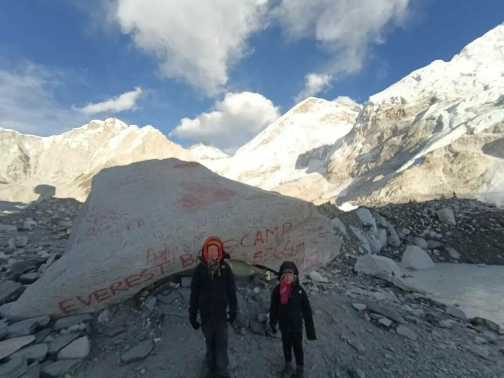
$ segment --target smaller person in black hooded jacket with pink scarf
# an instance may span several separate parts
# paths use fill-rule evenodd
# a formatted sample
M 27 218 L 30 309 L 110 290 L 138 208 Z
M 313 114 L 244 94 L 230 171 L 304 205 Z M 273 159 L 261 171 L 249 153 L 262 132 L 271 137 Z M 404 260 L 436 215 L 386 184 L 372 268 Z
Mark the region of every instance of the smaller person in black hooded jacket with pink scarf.
M 304 378 L 303 319 L 308 340 L 316 340 L 315 325 L 308 295 L 299 284 L 299 271 L 292 261 L 284 261 L 280 266 L 280 283 L 271 294 L 270 322 L 271 331 L 276 333 L 277 321 L 282 333 L 285 368 L 282 378 L 294 374 L 292 367 L 292 349 L 296 357 L 296 377 Z

